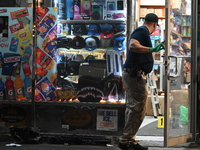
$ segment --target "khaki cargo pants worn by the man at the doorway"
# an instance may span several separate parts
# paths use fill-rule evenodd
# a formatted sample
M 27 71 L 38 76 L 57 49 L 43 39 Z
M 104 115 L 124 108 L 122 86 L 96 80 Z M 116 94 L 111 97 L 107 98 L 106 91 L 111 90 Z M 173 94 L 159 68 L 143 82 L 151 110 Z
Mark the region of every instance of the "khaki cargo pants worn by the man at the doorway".
M 136 144 L 135 136 L 146 113 L 148 97 L 146 75 L 130 77 L 126 71 L 123 71 L 122 82 L 126 91 L 126 110 L 125 126 L 120 143 Z

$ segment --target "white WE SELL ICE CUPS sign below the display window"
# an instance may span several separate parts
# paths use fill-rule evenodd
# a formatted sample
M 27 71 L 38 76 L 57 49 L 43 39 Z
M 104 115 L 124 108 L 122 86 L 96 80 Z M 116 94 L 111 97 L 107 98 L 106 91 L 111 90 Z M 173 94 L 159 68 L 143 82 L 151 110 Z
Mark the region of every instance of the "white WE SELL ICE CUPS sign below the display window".
M 97 110 L 97 130 L 117 131 L 118 111 L 114 109 Z

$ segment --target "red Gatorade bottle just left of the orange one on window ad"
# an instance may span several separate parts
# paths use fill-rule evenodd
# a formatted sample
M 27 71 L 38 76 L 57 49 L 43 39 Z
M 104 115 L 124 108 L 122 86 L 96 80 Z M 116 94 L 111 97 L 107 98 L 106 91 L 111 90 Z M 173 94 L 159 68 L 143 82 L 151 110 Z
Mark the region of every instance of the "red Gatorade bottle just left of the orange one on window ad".
M 10 76 L 6 77 L 6 97 L 8 100 L 14 100 L 15 99 L 15 89 L 14 89 L 14 82 L 11 80 Z

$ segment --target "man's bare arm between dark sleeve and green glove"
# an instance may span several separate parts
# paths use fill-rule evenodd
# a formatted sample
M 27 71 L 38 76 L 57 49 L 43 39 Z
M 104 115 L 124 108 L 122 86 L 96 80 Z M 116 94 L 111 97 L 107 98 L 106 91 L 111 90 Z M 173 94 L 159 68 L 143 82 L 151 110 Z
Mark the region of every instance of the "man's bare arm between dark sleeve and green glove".
M 150 47 L 141 45 L 136 39 L 131 39 L 129 43 L 129 50 L 135 53 L 149 53 Z

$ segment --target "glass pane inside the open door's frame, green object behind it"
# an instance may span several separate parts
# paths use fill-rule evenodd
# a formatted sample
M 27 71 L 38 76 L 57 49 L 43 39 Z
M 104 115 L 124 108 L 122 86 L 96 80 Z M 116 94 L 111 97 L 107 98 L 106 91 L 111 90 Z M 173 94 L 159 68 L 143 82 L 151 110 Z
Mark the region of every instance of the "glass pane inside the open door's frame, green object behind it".
M 191 0 L 171 1 L 170 137 L 190 133 Z

